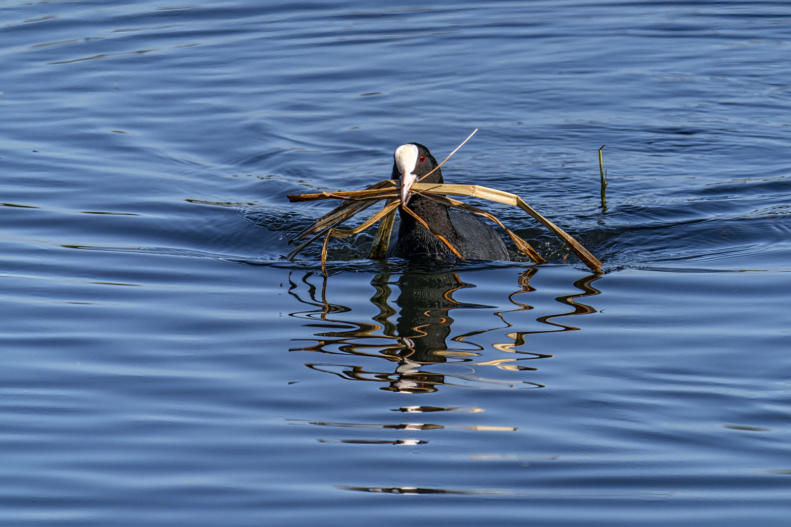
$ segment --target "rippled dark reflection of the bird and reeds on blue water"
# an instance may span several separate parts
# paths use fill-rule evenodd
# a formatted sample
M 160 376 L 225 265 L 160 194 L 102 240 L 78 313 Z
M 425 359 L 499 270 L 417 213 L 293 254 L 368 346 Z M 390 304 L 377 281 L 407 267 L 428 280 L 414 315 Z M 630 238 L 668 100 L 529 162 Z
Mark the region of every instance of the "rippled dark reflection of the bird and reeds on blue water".
M 538 322 L 553 326 L 551 329 L 505 333 L 509 342 L 492 344 L 498 351 L 509 353 L 509 356 L 479 360 L 482 355 L 480 352 L 483 352 L 484 348 L 471 341 L 472 338 L 483 333 L 513 328 L 507 319 L 509 314 L 533 309 L 529 304 L 520 302 L 520 295 L 536 291 L 530 285 L 530 279 L 538 271 L 539 269 L 536 268 L 528 269 L 518 278 L 519 288 L 508 297 L 514 309 L 494 313 L 505 326 L 479 329 L 456 337 L 451 337 L 451 327 L 454 322 L 451 316 L 452 310 L 491 308 L 453 299 L 453 293 L 457 290 L 475 287 L 461 280 L 457 273 L 407 272 L 395 282 L 391 281 L 391 275 L 377 275 L 371 281 L 376 290 L 371 302 L 380 312 L 373 317 L 372 323 L 345 320 L 344 318 L 348 317 L 344 317 L 343 313 L 351 310 L 349 307 L 330 303 L 327 300 L 327 277 L 324 277 L 320 298 L 317 298 L 316 285 L 308 281 L 312 273 L 306 273 L 301 282 L 307 285 L 307 292 L 302 293 L 301 286 L 291 279 L 289 292 L 301 303 L 314 309 L 292 313 L 291 316 L 310 320 L 311 323 L 305 324 L 307 327 L 326 330 L 315 333 L 317 339 L 305 339 L 312 344 L 293 348 L 292 351 L 377 357 L 387 360 L 392 363 L 392 367 L 387 371 L 369 371 L 363 366 L 341 363 L 308 363 L 306 366 L 344 379 L 386 384 L 387 386 L 380 386 L 380 390 L 397 393 L 430 393 L 437 391 L 439 386 L 489 389 L 541 388 L 543 386 L 536 382 L 482 377 L 476 375 L 476 370 L 493 367 L 497 370 L 492 371 L 535 371 L 536 368 L 526 366 L 524 361 L 545 359 L 551 355 L 524 352 L 516 348 L 525 344 L 525 337 L 532 333 L 579 329 L 553 319 L 596 312 L 588 305 L 577 303 L 575 299 L 598 295 L 600 291 L 591 284 L 594 280 L 598 280 L 600 275 L 589 275 L 574 282 L 573 286 L 581 290 L 581 293 L 556 298 L 559 303 L 573 307 L 573 311 L 536 318 Z M 393 294 L 391 284 L 397 285 L 400 291 L 394 302 L 391 299 Z M 396 314 L 399 315 L 397 321 L 392 322 Z M 450 347 L 448 347 L 448 339 L 454 343 Z M 437 369 L 437 365 L 442 364 L 455 366 L 452 368 L 454 371 L 441 373 L 431 371 L 432 368 Z M 460 370 L 461 373 L 458 372 Z

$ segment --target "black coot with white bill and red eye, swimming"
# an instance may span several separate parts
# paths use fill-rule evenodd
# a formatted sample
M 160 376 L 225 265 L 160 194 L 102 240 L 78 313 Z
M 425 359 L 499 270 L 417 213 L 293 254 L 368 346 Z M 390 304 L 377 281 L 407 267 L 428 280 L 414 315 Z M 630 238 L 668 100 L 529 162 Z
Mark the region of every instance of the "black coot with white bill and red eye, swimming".
M 429 149 L 419 143 L 401 145 L 393 154 L 392 179 L 400 179 L 401 201 L 441 234 L 459 253 L 471 260 L 510 260 L 497 232 L 474 214 L 450 209 L 421 195 L 409 196 L 412 183 L 437 167 Z M 421 183 L 444 183 L 441 169 Z M 391 243 L 388 258 L 455 258 L 445 243 L 399 207 L 398 239 Z

